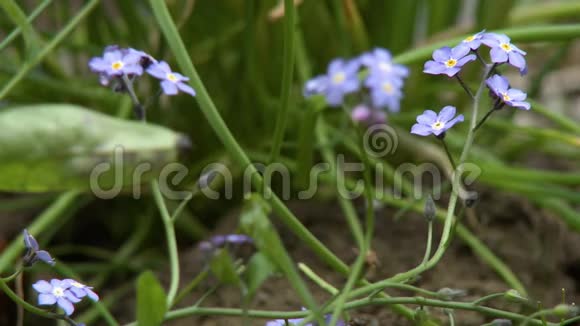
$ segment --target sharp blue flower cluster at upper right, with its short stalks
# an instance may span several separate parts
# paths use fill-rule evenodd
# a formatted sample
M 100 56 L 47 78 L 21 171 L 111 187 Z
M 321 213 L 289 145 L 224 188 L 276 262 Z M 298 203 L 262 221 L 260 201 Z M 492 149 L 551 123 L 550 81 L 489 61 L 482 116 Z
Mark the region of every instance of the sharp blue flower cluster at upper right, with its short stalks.
M 490 65 L 485 63 L 478 52 L 482 44 L 490 48 L 489 57 L 492 62 Z M 445 46 L 435 50 L 433 52 L 433 60 L 425 63 L 423 72 L 432 75 L 444 74 L 449 77 L 456 77 L 463 83 L 458 73 L 465 64 L 479 59 L 486 67 L 490 68 L 490 72 L 493 72 L 497 66 L 507 63 L 518 68 L 521 75 L 525 75 L 527 73 L 525 55 L 526 52 L 512 44 L 508 36 L 481 31 L 465 38 L 454 48 Z M 492 111 L 499 110 L 505 105 L 524 110 L 530 109 L 530 104 L 525 101 L 526 93 L 519 89 L 510 88 L 507 78 L 494 74 L 485 80 L 485 84 L 490 90 L 491 97 L 495 100 Z M 467 87 L 464 84 L 462 86 Z M 472 94 L 468 88 L 466 88 L 466 91 L 470 95 Z M 439 114 L 432 110 L 426 110 L 417 116 L 417 123 L 411 127 L 411 133 L 420 136 L 433 134 L 442 138 L 445 136 L 445 132 L 456 123 L 464 121 L 463 115 L 460 114 L 455 117 L 455 113 L 456 108 L 453 106 L 444 107 Z M 484 117 L 482 122 L 488 116 Z

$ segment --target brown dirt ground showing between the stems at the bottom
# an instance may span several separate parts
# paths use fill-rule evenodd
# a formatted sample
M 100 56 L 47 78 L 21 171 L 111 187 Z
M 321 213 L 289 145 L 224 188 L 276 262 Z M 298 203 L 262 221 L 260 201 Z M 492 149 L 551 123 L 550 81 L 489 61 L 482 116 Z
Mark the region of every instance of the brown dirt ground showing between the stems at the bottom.
M 314 205 L 315 204 L 315 205 Z M 290 208 L 300 216 L 304 224 L 324 244 L 347 263 L 356 258 L 353 239 L 342 218 L 340 208 L 335 203 L 290 203 Z M 362 213 L 362 212 L 361 212 Z M 410 213 L 405 218 L 394 221 L 396 210 L 382 208 L 377 211 L 376 236 L 373 242 L 380 267 L 367 276 L 380 280 L 414 267 L 424 254 L 427 225 L 418 214 Z M 566 289 L 567 302 L 577 300 L 580 290 L 580 235 L 572 233 L 557 220 L 520 199 L 505 194 L 494 196 L 484 194 L 471 219 L 469 228 L 514 271 L 524 283 L 530 297 L 550 307 L 562 300 L 562 289 Z M 237 212 L 223 220 L 216 234 L 231 233 L 237 224 Z M 330 270 L 289 232 L 280 227 L 287 249 L 298 262 L 311 267 L 331 284 L 340 287 L 344 278 Z M 440 234 L 437 225 L 435 234 Z M 437 236 L 434 239 L 438 242 Z M 200 252 L 196 249 L 184 251 L 183 282 L 191 280 L 203 267 Z M 487 265 L 482 263 L 461 239 L 456 238 L 442 261 L 421 276 L 415 283 L 428 290 L 443 287 L 467 291 L 464 300 L 474 300 L 486 294 L 508 290 L 507 285 Z M 209 285 L 208 285 L 209 286 Z M 319 301 L 329 295 L 315 285 L 311 290 Z M 206 287 L 207 289 L 207 287 Z M 195 292 L 180 306 L 191 305 L 203 291 Z M 397 293 L 394 295 L 410 295 Z M 240 307 L 240 294 L 234 288 L 221 288 L 207 298 L 202 306 Z M 494 301 L 491 306 L 521 311 L 516 304 Z M 294 291 L 282 278 L 272 278 L 259 291 L 251 305 L 255 309 L 297 310 L 300 303 Z M 416 308 L 416 307 L 413 307 Z M 440 309 L 431 308 L 446 318 Z M 493 318 L 472 312 L 456 312 L 457 325 L 481 325 Z M 375 306 L 351 312 L 351 325 L 411 325 L 412 323 L 396 316 L 386 306 Z M 168 323 L 168 325 L 227 326 L 241 325 L 238 318 L 191 317 Z M 251 325 L 264 325 L 265 320 L 253 320 Z

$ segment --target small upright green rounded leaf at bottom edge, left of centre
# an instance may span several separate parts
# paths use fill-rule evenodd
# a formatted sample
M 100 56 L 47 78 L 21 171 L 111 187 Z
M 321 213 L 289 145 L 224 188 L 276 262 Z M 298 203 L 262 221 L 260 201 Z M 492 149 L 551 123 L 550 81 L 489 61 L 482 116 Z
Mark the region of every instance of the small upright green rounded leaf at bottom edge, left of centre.
M 137 325 L 159 326 L 167 311 L 165 291 L 150 271 L 137 279 Z

